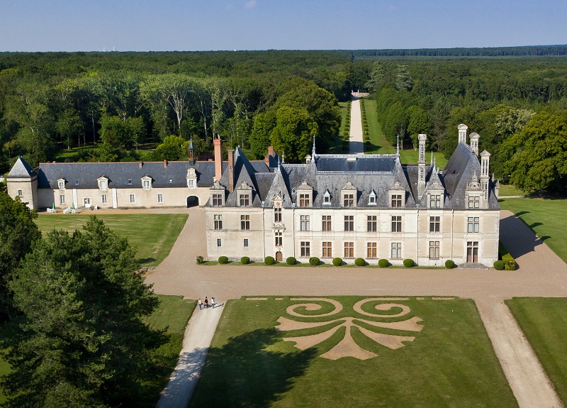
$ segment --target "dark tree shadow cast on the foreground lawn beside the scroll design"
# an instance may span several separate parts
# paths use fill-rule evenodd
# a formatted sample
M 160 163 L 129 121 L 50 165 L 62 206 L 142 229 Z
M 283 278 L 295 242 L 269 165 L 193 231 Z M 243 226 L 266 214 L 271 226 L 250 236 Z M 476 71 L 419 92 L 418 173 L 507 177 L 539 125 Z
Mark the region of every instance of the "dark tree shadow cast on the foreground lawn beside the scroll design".
M 305 373 L 316 353 L 266 350 L 277 341 L 274 329 L 258 329 L 209 348 L 189 407 L 271 406 Z

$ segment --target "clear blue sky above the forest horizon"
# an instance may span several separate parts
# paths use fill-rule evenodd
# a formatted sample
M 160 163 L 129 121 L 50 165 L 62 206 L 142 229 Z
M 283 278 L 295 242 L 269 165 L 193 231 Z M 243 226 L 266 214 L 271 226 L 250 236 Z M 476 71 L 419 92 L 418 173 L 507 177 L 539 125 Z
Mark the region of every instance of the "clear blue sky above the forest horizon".
M 0 51 L 333 50 L 567 43 L 566 0 L 11 0 Z

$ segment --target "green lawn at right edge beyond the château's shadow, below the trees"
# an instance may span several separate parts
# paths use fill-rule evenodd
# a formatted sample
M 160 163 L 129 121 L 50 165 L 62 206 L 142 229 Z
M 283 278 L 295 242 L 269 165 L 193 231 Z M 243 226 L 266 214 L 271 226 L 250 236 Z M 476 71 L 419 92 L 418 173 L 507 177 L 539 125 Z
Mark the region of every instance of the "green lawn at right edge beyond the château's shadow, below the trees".
M 518 198 L 498 200 L 537 233 L 559 258 L 567 262 L 567 199 Z

